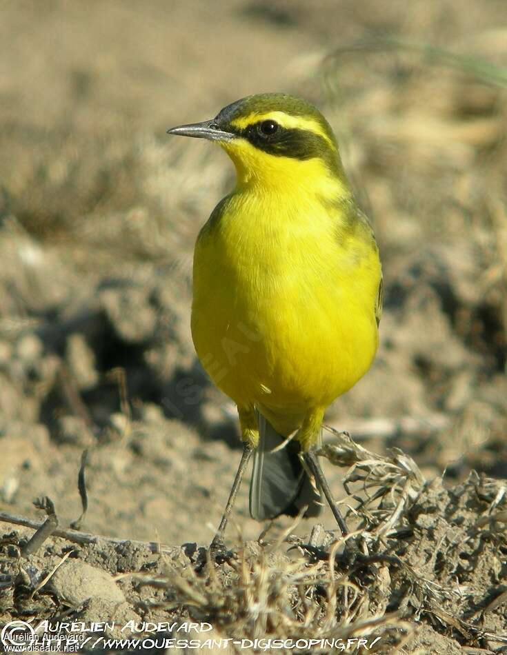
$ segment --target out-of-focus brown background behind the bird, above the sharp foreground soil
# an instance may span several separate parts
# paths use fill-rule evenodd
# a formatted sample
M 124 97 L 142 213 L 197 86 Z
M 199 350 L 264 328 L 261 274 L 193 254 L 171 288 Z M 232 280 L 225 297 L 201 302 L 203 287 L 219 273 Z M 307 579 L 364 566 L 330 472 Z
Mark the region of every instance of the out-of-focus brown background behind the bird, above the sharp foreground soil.
M 265 91 L 326 114 L 384 265 L 377 360 L 328 424 L 427 478 L 506 476 L 504 0 L 0 9 L 2 510 L 48 494 L 77 518 L 88 448 L 86 529 L 210 540 L 240 444 L 195 359 L 190 276 L 233 174 L 166 129 Z M 259 534 L 248 484 L 235 517 Z

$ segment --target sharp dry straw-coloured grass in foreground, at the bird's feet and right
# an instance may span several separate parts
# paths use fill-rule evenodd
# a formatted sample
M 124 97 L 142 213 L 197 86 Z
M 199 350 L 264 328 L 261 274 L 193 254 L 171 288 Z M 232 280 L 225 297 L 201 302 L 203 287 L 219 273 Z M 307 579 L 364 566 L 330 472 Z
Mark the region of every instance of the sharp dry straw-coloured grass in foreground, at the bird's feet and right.
M 214 638 L 265 640 L 259 647 L 268 650 L 281 641 L 314 640 L 312 652 L 329 652 L 333 643 L 339 648 L 351 640 L 349 651 L 359 652 L 358 640 L 365 639 L 365 646 L 375 642 L 375 652 L 410 652 L 420 631 L 402 618 L 409 608 L 433 625 L 433 652 L 452 648 L 439 632 L 470 647 L 506 644 L 504 587 L 493 598 L 476 596 L 477 575 L 493 570 L 499 549 L 507 548 L 506 487 L 477 475 L 455 490 L 444 490 L 441 481 L 428 485 L 403 452 L 378 456 L 348 434 L 322 454 L 348 467 L 346 487 L 363 492 L 347 500 L 356 501 L 350 514 L 359 519 L 348 546 L 319 526 L 307 539 L 295 536 L 297 519 L 275 538 L 264 532 L 245 543 L 239 535 L 221 565 L 190 549 L 189 558 L 166 561 L 165 574 L 137 577 L 143 587 L 165 590 L 151 608 L 209 621 Z M 477 520 L 465 524 L 467 513 Z M 463 568 L 460 558 L 469 553 L 474 567 Z

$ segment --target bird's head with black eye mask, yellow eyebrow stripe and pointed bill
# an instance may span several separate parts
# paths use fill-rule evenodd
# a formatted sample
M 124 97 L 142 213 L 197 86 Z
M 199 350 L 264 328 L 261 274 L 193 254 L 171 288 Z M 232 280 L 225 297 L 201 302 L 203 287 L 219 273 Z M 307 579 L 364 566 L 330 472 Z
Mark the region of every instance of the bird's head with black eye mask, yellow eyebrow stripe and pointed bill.
M 235 163 L 239 184 L 312 185 L 326 178 L 344 186 L 335 135 L 321 112 L 301 98 L 248 96 L 214 119 L 179 125 L 168 134 L 216 141 Z

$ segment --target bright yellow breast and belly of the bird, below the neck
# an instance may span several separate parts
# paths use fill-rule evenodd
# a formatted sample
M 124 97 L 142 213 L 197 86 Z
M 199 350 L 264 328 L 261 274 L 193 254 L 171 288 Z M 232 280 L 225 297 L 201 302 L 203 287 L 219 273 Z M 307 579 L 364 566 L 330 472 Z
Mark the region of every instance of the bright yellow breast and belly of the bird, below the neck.
M 230 205 L 230 220 L 208 224 L 196 245 L 199 359 L 239 407 L 288 416 L 326 407 L 377 350 L 377 251 L 366 241 L 340 243 L 324 210 L 273 226 Z

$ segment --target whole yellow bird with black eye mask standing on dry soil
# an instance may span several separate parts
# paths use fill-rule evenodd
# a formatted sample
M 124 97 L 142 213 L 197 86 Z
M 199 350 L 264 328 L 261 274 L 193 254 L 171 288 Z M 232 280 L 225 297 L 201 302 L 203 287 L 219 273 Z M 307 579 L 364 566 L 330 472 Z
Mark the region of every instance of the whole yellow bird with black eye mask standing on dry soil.
M 250 514 L 317 516 L 324 493 L 349 534 L 316 454 L 326 408 L 368 371 L 379 343 L 375 235 L 310 102 L 250 95 L 168 134 L 217 143 L 236 183 L 197 237 L 191 331 L 212 381 L 237 406 L 243 453 L 212 547 L 254 458 Z

